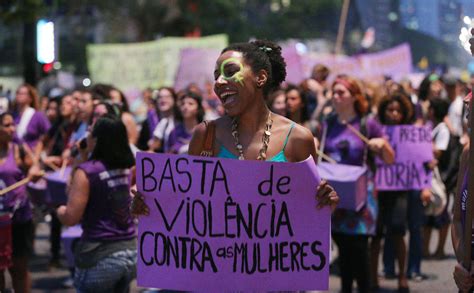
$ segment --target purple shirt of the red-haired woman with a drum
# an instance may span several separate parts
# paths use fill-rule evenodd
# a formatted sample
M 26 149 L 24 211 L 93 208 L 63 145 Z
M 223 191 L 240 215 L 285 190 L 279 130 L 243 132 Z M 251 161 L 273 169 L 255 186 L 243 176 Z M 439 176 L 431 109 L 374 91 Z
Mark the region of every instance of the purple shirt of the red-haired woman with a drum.
M 360 117 L 354 118 L 350 124 L 360 131 Z M 324 123 L 328 129 L 324 153 L 340 164 L 362 166 L 364 162 L 365 143 L 346 125 L 340 123 L 337 116 L 332 116 Z M 372 118 L 367 118 L 366 136 L 371 139 L 382 137 L 382 126 Z

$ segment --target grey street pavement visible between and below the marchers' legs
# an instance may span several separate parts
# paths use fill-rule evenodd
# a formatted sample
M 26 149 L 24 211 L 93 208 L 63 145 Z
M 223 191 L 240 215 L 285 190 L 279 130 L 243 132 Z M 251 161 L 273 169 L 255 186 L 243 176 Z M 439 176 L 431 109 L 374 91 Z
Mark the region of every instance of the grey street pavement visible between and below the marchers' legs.
M 437 233 L 433 233 L 431 241 L 432 251 L 435 249 L 437 241 Z M 67 288 L 63 286 L 63 283 L 67 281 L 69 277 L 69 271 L 66 268 L 53 268 L 48 269 L 49 262 L 49 225 L 45 222 L 38 224 L 37 236 L 35 240 L 35 256 L 33 257 L 30 265 L 33 279 L 33 293 L 40 292 L 75 292 L 73 288 Z M 453 255 L 453 249 L 451 247 L 451 241 L 448 238 L 446 241 L 445 251 L 448 255 L 447 259 L 444 260 L 424 260 L 422 263 L 422 272 L 428 276 L 427 280 L 421 282 L 410 281 L 411 292 L 457 292 L 456 285 L 452 279 L 452 271 L 455 265 L 455 259 Z M 63 264 L 65 264 L 63 260 Z M 380 269 L 382 266 L 379 266 Z M 336 275 L 331 275 L 329 279 L 329 292 L 339 292 L 340 279 Z M 396 292 L 397 280 L 386 280 L 380 278 L 381 289 L 378 292 Z M 7 274 L 7 288 L 11 288 L 11 281 Z M 136 282 L 132 283 L 131 292 L 150 292 L 151 290 L 145 290 L 136 286 Z M 12 292 L 8 291 L 7 292 Z M 312 291 L 314 293 L 316 291 Z M 356 292 L 356 290 L 354 290 Z

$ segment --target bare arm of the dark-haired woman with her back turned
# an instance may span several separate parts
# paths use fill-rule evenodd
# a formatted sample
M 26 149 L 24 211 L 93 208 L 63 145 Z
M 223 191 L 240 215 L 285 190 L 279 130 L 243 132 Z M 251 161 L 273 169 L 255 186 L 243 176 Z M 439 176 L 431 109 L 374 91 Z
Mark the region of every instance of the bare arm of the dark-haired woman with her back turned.
M 72 177 L 71 186 L 68 192 L 67 205 L 60 206 L 56 212 L 59 221 L 66 226 L 78 224 L 89 201 L 89 179 L 86 173 L 77 169 Z

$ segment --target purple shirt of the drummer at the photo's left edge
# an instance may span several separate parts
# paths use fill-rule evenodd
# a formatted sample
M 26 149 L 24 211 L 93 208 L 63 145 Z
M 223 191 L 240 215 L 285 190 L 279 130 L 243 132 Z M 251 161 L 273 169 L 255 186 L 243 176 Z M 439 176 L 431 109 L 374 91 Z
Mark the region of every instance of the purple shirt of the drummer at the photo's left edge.
M 13 145 L 8 150 L 6 160 L 0 164 L 0 189 L 8 187 L 23 178 L 23 172 L 15 161 Z M 22 185 L 4 196 L 0 196 L 0 211 L 13 213 L 12 222 L 20 223 L 31 220 L 30 200 L 26 194 L 26 185 Z

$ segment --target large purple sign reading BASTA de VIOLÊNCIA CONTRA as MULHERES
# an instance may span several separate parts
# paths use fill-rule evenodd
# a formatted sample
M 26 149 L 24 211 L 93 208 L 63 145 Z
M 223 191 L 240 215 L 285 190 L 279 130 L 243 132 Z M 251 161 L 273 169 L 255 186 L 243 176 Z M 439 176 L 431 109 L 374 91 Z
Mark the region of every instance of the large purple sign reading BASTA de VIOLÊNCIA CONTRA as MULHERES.
M 138 285 L 203 292 L 327 290 L 330 210 L 301 163 L 139 153 Z

